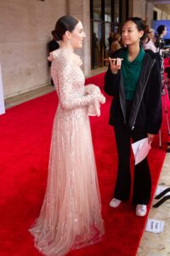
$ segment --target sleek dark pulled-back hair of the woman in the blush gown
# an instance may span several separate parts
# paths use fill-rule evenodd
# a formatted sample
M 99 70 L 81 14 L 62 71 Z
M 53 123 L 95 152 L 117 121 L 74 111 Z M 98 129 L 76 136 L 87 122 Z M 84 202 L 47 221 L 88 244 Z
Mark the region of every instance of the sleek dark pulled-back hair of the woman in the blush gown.
M 77 26 L 78 22 L 79 20 L 71 15 L 60 17 L 59 20 L 57 20 L 54 29 L 54 35 L 57 41 L 63 39 L 63 35 L 66 31 L 72 32 L 75 29 L 75 26 Z

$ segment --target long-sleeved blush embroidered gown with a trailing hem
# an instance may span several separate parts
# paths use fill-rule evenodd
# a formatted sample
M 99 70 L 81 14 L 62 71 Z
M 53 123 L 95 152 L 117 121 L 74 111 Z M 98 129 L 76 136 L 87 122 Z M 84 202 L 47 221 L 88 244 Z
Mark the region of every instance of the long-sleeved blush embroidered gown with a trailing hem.
M 59 96 L 54 117 L 48 183 L 42 209 L 31 228 L 35 247 L 44 255 L 65 255 L 101 240 L 99 184 L 88 119 L 94 95 L 85 95 L 79 56 L 54 52 L 51 73 Z

